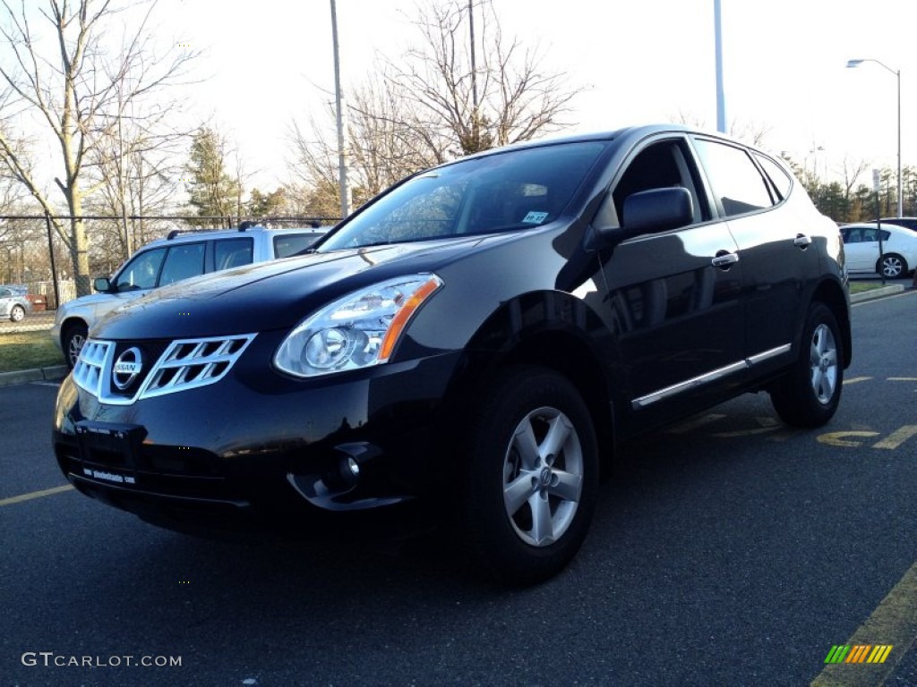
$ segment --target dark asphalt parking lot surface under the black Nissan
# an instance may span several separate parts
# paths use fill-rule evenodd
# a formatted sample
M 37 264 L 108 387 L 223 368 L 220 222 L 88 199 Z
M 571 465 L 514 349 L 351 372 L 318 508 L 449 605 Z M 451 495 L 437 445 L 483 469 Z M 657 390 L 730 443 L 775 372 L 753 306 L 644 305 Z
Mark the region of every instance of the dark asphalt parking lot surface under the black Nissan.
M 917 291 L 853 313 L 828 426 L 746 396 L 627 445 L 579 558 L 523 591 L 459 572 L 436 534 L 154 529 L 66 485 L 56 385 L 0 388 L 3 682 L 917 684 Z M 826 667 L 847 645 L 891 649 Z

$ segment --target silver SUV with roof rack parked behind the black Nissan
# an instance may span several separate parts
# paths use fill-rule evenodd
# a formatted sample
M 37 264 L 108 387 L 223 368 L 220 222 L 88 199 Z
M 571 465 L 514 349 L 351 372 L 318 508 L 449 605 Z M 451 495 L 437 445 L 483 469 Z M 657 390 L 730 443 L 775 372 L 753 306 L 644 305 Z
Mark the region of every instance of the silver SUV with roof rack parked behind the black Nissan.
M 63 303 L 51 338 L 72 367 L 89 330 L 118 306 L 182 279 L 296 255 L 326 230 L 320 226 L 275 229 L 249 222 L 238 229 L 173 230 L 140 248 L 110 278 L 95 279 L 97 293 Z

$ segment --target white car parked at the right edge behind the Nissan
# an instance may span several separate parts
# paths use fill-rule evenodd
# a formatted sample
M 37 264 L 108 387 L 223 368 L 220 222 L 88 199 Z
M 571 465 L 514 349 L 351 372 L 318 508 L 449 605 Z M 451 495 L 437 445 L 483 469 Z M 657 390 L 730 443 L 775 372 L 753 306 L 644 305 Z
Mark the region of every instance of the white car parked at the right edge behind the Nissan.
M 882 252 L 879 255 L 879 232 Z M 917 267 L 917 233 L 896 224 L 845 224 L 841 227 L 847 271 L 904 277 Z

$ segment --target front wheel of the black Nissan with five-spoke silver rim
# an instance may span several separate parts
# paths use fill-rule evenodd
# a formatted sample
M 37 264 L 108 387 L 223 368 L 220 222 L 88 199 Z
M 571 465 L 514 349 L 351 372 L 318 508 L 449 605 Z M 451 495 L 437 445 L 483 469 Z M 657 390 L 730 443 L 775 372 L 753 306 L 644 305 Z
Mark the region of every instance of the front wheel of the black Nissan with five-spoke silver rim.
M 474 561 L 503 583 L 546 580 L 586 537 L 598 495 L 589 409 L 553 370 L 515 366 L 474 412 L 459 509 Z

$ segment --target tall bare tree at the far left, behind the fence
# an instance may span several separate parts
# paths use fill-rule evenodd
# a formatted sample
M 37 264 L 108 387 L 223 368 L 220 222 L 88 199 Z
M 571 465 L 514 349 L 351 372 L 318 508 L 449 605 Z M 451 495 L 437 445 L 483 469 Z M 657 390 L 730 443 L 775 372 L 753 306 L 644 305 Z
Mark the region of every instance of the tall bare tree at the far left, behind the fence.
M 142 6 L 141 6 L 142 5 Z M 56 140 L 61 174 L 54 178 L 71 219 L 65 223 L 21 147 L 0 131 L 0 164 L 16 175 L 48 213 L 70 251 L 77 293 L 89 292 L 89 258 L 83 203 L 93 191 L 88 171 L 94 151 L 129 104 L 142 102 L 175 82 L 193 53 L 157 54 L 150 44 L 150 16 L 156 2 L 115 5 L 112 0 L 46 0 L 38 9 L 20 0 L 0 0 L 6 48 L 0 84 L 6 106 L 43 122 Z M 114 21 L 138 17 L 131 28 Z M 105 34 L 123 33 L 117 50 L 105 48 Z

